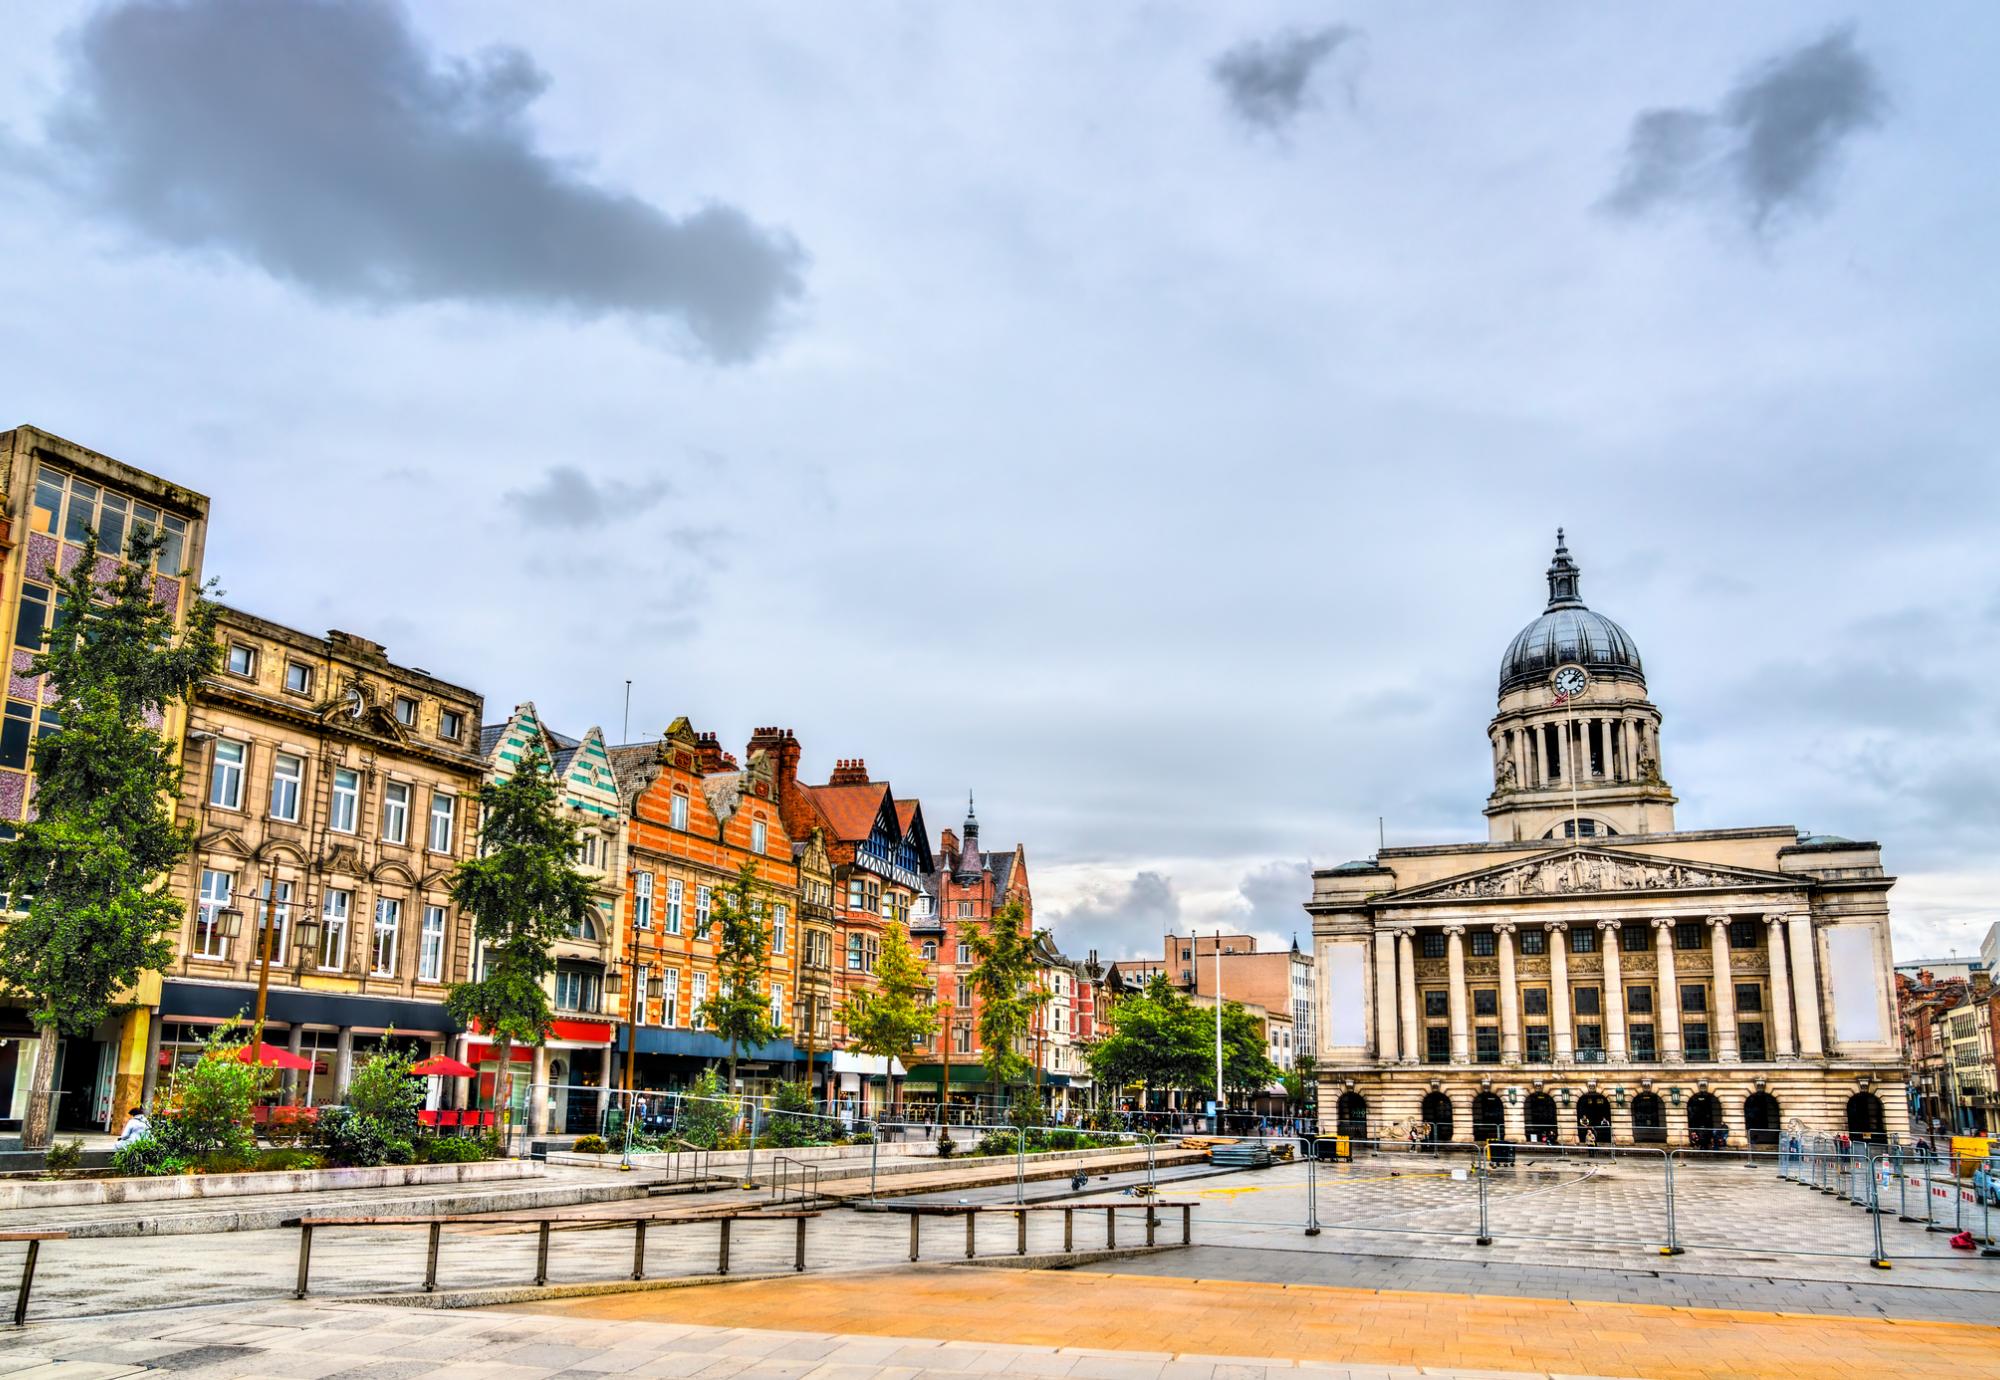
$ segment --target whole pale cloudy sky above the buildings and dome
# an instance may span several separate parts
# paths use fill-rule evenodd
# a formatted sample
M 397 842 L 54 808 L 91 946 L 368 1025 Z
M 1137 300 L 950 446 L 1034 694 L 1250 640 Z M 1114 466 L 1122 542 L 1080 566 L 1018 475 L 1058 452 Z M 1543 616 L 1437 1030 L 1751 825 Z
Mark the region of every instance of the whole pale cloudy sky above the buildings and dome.
M 1066 952 L 1484 838 L 1500 652 L 1638 642 L 1682 828 L 2000 920 L 1986 4 L 10 14 L 0 426 L 228 602 L 566 732 L 968 790 Z M 1380 820 L 1380 826 L 1378 826 Z

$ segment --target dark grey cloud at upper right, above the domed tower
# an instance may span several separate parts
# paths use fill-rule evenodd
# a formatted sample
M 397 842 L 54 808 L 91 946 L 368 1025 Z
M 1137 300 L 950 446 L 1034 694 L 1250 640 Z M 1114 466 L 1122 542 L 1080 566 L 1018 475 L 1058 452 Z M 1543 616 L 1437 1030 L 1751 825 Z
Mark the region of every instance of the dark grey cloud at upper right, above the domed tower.
M 1886 112 L 1854 30 L 1836 28 L 1744 74 L 1714 110 L 1640 112 L 1604 210 L 1632 218 L 1718 202 L 1764 230 L 1784 212 L 1820 208 L 1840 146 Z

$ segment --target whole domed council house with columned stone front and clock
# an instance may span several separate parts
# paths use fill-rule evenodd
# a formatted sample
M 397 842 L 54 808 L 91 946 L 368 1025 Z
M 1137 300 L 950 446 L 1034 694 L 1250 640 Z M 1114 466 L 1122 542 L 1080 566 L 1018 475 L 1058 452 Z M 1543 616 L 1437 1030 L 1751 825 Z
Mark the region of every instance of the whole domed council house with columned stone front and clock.
M 1340 1134 L 1772 1146 L 1904 1106 L 1878 844 L 1676 830 L 1638 646 L 1578 596 L 1500 660 L 1488 842 L 1314 872 Z

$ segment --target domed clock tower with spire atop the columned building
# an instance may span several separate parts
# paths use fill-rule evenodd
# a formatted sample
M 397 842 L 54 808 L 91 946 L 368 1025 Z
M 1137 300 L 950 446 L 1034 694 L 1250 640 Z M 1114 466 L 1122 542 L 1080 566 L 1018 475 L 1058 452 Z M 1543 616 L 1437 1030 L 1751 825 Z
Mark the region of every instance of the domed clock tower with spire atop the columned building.
M 1674 792 L 1660 776 L 1660 710 L 1632 634 L 1584 606 L 1580 570 L 1556 528 L 1548 608 L 1500 658 L 1500 712 L 1488 836 L 1670 834 Z

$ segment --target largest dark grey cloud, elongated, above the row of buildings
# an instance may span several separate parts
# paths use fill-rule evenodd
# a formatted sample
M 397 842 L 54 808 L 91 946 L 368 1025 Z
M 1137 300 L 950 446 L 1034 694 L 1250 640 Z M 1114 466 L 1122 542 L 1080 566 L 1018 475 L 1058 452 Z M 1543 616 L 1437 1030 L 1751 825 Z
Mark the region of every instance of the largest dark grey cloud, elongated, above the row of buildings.
M 542 152 L 546 86 L 518 48 L 426 50 L 390 0 L 128 0 L 74 34 L 36 164 L 140 236 L 328 298 L 662 318 L 716 360 L 758 354 L 798 244 Z

